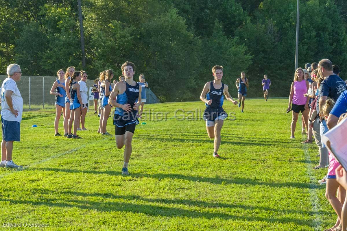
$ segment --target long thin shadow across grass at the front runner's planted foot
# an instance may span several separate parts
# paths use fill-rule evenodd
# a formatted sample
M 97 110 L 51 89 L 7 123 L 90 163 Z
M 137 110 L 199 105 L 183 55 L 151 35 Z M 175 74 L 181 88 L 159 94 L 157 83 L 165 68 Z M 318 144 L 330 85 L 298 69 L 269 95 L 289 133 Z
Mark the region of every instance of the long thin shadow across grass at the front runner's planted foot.
M 88 173 L 88 174 L 107 174 L 111 176 L 119 176 L 120 171 L 96 171 L 96 170 L 78 170 L 78 169 L 59 169 L 59 168 L 37 168 L 37 170 L 42 171 L 55 171 L 55 172 L 66 172 L 66 173 Z M 236 184 L 236 185 L 260 185 L 260 186 L 270 186 L 274 188 L 281 188 L 281 187 L 294 187 L 294 188 L 319 188 L 318 185 L 311 184 L 311 183 L 301 183 L 301 182 L 265 182 L 261 181 L 259 179 L 250 179 L 250 178 L 232 178 L 232 179 L 226 179 L 226 178 L 211 178 L 211 177 L 196 177 L 196 176 L 185 176 L 182 174 L 163 174 L 163 173 L 156 173 L 156 174 L 141 174 L 141 173 L 132 173 L 132 178 L 141 178 L 141 177 L 148 177 L 148 178 L 156 178 L 156 179 L 165 179 L 165 178 L 171 178 L 171 179 L 182 179 L 182 180 L 188 180 L 188 181 L 194 181 L 194 182 L 208 182 L 218 185 L 228 185 L 228 184 Z

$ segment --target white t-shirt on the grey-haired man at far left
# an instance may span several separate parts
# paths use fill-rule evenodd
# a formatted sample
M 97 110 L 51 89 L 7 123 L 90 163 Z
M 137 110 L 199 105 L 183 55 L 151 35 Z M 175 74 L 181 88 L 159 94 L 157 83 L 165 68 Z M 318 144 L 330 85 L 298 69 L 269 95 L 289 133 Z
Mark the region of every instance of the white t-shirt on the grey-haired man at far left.
M 13 92 L 11 95 L 12 105 L 13 105 L 13 109 L 18 111 L 17 117 L 10 110 L 7 110 L 9 109 L 9 106 L 5 99 L 6 90 L 10 90 Z M 20 123 L 22 121 L 22 114 L 23 114 L 23 98 L 20 95 L 20 92 L 15 80 L 13 80 L 12 78 L 7 78 L 3 81 L 1 86 L 1 117 L 7 121 L 17 121 Z

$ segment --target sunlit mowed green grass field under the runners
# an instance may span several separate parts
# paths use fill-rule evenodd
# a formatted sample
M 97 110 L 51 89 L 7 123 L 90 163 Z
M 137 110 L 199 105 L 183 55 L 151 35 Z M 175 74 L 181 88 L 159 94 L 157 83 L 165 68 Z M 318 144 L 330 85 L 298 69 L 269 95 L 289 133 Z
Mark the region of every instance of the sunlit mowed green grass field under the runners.
M 90 110 L 83 139 L 54 137 L 54 111 L 25 112 L 14 144 L 22 171 L 0 170 L 0 225 L 49 224 L 26 230 L 322 230 L 336 215 L 317 184 L 327 169 L 315 144 L 291 140 L 287 99 L 246 99 L 245 113 L 222 129 L 221 159 L 203 120 L 178 121 L 176 109 L 202 102 L 146 105 L 166 121 L 136 127 L 130 177 L 121 176 L 123 149 L 96 133 Z M 181 114 L 181 113 L 179 113 Z M 186 113 L 187 114 L 187 113 Z M 181 117 L 180 117 L 181 118 Z M 38 125 L 32 128 L 33 124 Z M 112 119 L 108 131 L 114 134 Z M 63 134 L 62 119 L 59 127 Z M 9 228 L 3 228 L 9 229 Z M 11 230 L 23 230 L 11 228 Z

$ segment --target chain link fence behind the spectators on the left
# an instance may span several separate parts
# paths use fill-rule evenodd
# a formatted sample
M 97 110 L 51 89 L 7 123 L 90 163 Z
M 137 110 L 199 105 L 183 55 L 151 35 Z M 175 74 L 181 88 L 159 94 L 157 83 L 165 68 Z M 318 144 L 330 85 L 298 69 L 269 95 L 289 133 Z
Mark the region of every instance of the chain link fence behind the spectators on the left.
M 0 85 L 6 78 L 7 76 L 0 75 Z M 23 98 L 23 111 L 55 108 L 56 96 L 51 95 L 50 91 L 57 79 L 52 76 L 22 76 L 16 83 Z M 86 85 L 90 89 L 94 81 L 88 79 Z M 94 103 L 89 101 L 88 105 L 93 107 Z

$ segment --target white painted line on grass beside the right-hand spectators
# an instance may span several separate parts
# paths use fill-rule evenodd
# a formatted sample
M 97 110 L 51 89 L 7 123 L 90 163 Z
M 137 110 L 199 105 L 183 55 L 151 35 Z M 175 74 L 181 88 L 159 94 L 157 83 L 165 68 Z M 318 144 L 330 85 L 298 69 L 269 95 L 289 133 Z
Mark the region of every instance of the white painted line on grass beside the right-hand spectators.
M 308 189 L 308 193 L 310 194 L 310 200 L 312 204 L 313 211 L 315 212 L 314 216 L 315 219 L 313 220 L 313 228 L 315 230 L 322 230 L 322 217 L 319 215 L 319 211 L 321 211 L 321 207 L 319 205 L 319 199 L 317 195 L 317 190 L 313 187 L 313 184 L 316 183 L 316 179 L 313 174 L 313 170 L 311 167 L 311 156 L 310 153 L 308 152 L 308 147 L 307 144 L 304 144 L 304 153 L 305 153 L 305 159 L 307 160 L 306 164 L 306 171 L 308 174 L 308 177 L 310 178 L 310 188 Z

